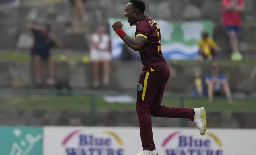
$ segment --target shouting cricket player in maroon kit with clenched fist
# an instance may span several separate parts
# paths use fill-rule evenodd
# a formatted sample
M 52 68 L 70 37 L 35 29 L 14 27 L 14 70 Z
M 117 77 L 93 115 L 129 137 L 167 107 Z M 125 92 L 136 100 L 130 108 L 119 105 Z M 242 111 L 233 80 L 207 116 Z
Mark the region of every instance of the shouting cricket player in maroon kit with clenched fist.
M 112 27 L 128 47 L 139 51 L 144 66 L 137 83 L 136 112 L 143 148 L 138 155 L 159 155 L 153 140 L 151 116 L 190 119 L 200 134 L 204 135 L 207 127 L 206 111 L 204 107 L 194 109 L 161 104 L 170 70 L 162 53 L 160 27 L 154 19 L 145 16 L 144 11 L 145 2 L 142 0 L 130 0 L 125 7 L 124 16 L 128 23 L 136 26 L 135 39 L 126 35 L 120 21 Z

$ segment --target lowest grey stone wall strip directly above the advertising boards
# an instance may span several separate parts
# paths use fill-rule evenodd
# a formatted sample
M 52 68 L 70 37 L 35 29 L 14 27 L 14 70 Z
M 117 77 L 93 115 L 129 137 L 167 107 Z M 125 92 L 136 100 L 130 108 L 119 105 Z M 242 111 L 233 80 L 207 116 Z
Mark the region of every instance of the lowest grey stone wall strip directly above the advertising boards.
M 207 113 L 208 127 L 256 128 L 256 113 Z M 95 119 L 93 119 L 95 118 Z M 0 108 L 0 125 L 124 126 L 137 127 L 136 112 Z M 153 127 L 195 127 L 186 119 L 153 117 Z

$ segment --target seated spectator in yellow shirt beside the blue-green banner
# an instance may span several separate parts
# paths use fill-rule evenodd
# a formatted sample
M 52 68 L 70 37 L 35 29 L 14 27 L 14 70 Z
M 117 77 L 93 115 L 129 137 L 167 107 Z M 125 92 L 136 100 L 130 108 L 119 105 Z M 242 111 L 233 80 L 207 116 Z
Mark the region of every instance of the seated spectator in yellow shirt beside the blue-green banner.
M 198 55 L 201 60 L 213 60 L 220 51 L 216 42 L 209 37 L 208 32 L 202 33 L 202 39 L 198 41 L 198 46 Z

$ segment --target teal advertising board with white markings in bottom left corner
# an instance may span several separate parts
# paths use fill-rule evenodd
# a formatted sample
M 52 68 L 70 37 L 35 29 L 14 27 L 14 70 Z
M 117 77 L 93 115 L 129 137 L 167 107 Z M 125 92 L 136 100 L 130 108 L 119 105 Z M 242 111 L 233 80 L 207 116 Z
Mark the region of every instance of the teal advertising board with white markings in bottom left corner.
M 42 127 L 0 127 L 0 155 L 42 155 Z

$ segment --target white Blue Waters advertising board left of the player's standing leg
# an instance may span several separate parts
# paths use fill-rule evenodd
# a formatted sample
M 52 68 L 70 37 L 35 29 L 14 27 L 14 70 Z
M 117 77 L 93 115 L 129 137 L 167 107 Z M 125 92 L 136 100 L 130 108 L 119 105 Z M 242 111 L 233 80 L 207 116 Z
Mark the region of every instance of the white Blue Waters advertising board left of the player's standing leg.
M 134 138 L 132 134 L 138 135 L 139 131 L 107 127 L 45 127 L 44 155 L 126 155 L 129 147 L 140 144 L 140 138 Z M 137 143 L 131 143 L 134 140 Z

